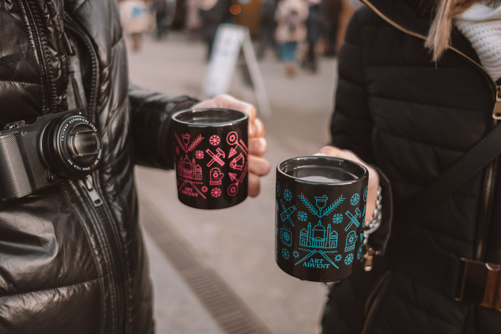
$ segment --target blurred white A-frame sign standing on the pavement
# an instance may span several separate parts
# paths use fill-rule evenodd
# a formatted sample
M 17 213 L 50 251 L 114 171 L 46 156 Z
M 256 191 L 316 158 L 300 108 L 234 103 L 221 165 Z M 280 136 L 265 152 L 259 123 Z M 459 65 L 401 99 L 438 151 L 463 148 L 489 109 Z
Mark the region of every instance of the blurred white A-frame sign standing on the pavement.
M 269 117 L 272 109 L 247 27 L 222 24 L 217 28 L 202 95 L 214 97 L 228 92 L 240 52 L 247 65 L 258 108 L 263 116 Z

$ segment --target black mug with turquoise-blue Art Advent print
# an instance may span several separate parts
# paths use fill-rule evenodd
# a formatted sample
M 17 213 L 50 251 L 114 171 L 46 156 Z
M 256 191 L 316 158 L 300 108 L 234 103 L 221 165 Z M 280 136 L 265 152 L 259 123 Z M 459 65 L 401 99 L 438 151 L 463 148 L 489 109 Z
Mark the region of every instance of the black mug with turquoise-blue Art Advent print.
M 369 172 L 350 160 L 310 156 L 277 166 L 275 259 L 288 274 L 333 282 L 362 257 Z

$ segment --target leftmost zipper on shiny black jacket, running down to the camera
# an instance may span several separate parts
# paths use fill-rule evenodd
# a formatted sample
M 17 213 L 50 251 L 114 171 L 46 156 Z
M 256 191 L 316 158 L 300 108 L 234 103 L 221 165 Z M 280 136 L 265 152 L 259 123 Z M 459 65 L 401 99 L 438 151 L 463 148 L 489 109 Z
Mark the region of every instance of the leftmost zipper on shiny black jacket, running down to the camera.
M 33 42 L 38 55 L 38 63 L 42 77 L 42 112 L 44 114 L 56 113 L 57 89 L 52 72 L 51 54 L 47 45 L 44 26 L 40 19 L 38 8 L 33 0 L 20 0 L 20 5 L 27 17 L 27 24 L 33 35 Z

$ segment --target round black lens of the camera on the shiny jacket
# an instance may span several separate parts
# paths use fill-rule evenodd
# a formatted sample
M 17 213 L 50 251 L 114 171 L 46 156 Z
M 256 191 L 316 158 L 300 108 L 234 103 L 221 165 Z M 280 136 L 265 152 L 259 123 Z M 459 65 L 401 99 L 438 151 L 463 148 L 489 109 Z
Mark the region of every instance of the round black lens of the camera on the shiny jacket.
M 101 136 L 92 122 L 81 115 L 67 115 L 51 122 L 40 143 L 48 167 L 59 176 L 83 177 L 101 160 Z

